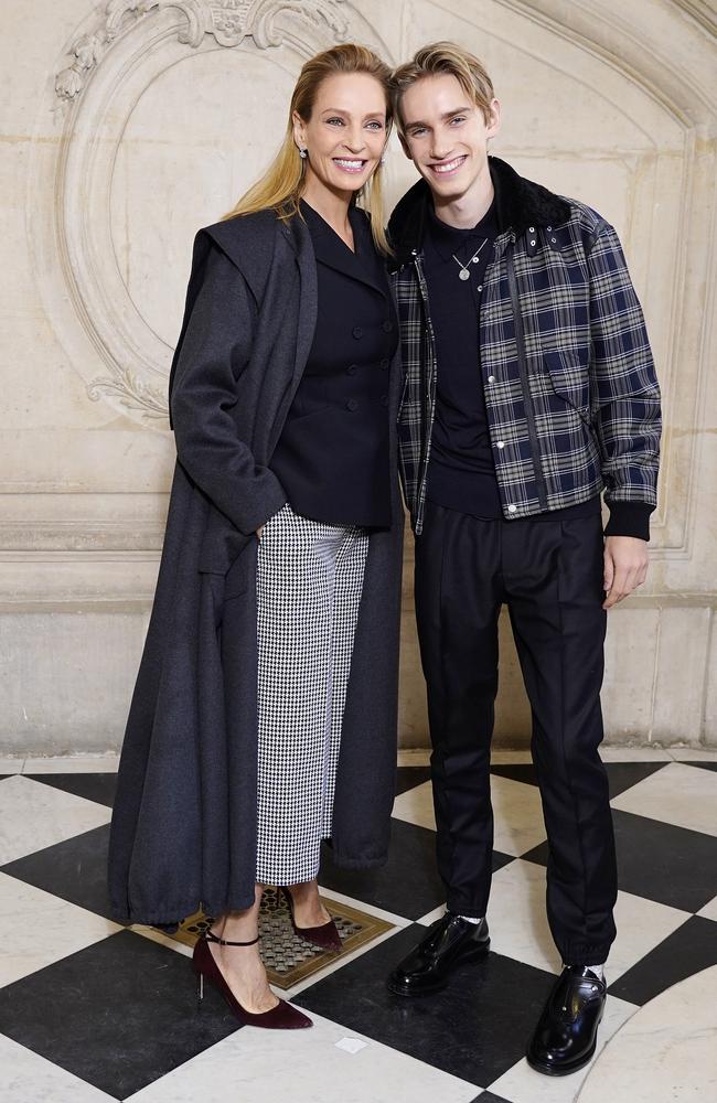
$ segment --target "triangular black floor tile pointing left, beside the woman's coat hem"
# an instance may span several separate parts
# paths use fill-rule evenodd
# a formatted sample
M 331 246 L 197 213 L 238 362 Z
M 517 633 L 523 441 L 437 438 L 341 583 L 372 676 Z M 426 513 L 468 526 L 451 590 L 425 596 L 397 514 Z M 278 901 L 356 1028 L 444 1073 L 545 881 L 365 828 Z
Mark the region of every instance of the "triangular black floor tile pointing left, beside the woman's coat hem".
M 113 919 L 107 893 L 109 824 L 35 850 L 2 867 L 3 874 Z

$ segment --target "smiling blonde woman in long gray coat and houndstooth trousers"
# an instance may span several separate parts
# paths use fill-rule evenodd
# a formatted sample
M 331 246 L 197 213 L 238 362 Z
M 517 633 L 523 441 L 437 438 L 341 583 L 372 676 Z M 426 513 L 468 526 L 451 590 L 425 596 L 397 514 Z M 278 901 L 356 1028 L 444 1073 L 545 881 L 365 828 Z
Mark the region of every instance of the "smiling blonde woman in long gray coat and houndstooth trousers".
M 263 885 L 283 887 L 297 933 L 340 949 L 321 839 L 355 868 L 388 843 L 403 532 L 388 79 L 362 46 L 309 61 L 275 162 L 196 237 L 170 378 L 178 464 L 113 816 L 117 915 L 216 917 L 194 952 L 200 995 L 207 978 L 265 1027 L 311 1021 L 268 986 Z

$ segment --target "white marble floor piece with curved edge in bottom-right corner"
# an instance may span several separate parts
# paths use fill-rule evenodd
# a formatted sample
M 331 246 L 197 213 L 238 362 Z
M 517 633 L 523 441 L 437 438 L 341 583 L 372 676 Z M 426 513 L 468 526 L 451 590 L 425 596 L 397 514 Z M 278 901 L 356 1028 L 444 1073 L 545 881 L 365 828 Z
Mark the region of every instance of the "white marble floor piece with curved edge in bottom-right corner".
M 603 1049 L 579 1103 L 717 1100 L 717 965 L 641 1007 Z

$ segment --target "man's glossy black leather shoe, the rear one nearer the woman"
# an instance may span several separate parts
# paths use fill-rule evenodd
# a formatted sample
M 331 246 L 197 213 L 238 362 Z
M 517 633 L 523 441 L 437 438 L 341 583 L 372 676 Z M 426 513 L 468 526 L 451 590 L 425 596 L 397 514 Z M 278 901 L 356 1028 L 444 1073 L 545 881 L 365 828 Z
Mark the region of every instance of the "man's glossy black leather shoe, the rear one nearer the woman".
M 445 988 L 452 968 L 485 957 L 491 949 L 488 923 L 469 923 L 447 913 L 428 929 L 426 938 L 404 957 L 388 977 L 397 996 L 427 996 Z

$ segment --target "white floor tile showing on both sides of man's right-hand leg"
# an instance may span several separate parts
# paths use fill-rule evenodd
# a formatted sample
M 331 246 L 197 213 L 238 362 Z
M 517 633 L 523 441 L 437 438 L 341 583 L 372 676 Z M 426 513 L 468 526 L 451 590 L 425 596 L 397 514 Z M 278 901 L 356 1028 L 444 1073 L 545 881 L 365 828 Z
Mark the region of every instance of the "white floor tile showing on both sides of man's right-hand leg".
M 608 984 L 631 968 L 663 939 L 689 919 L 687 912 L 619 892 L 618 938 L 606 967 Z M 488 906 L 491 949 L 527 965 L 557 973 L 560 956 L 553 943 L 545 911 L 545 868 L 512 861 L 493 875 Z M 500 1094 L 500 1093 L 499 1093 Z

